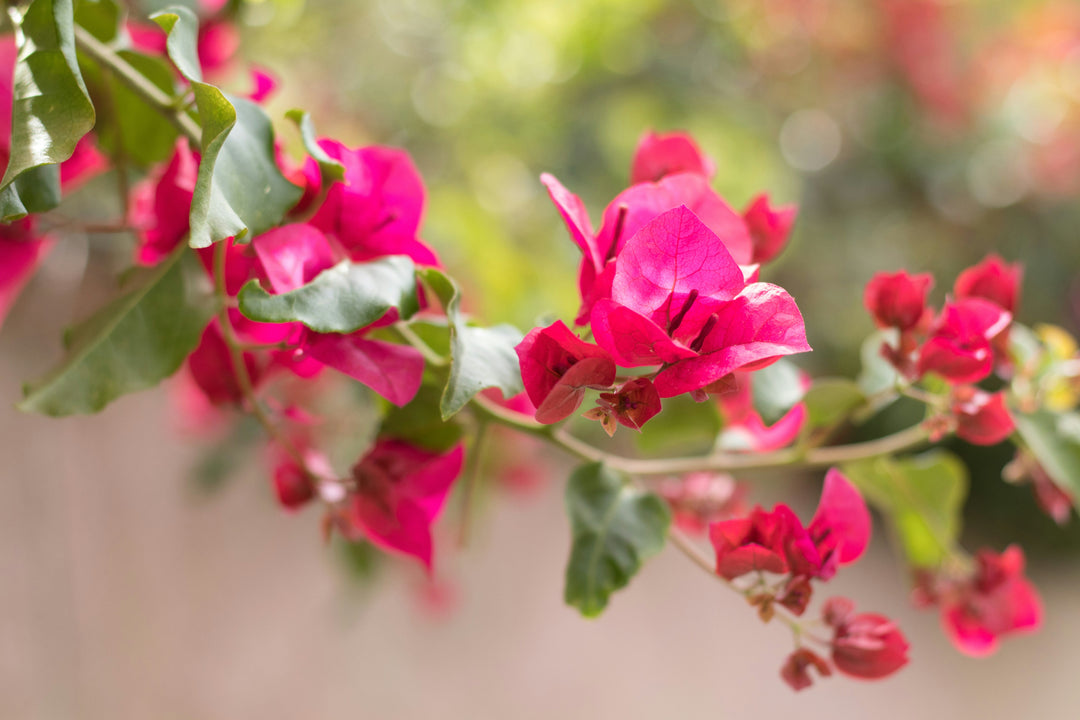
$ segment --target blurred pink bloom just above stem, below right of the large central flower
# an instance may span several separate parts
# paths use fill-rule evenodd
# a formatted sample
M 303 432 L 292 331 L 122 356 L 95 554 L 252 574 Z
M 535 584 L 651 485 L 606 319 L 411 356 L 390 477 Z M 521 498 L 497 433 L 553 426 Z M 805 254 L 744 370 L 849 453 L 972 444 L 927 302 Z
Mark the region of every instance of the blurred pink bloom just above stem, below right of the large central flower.
M 810 378 L 800 376 L 804 391 L 809 390 Z M 766 425 L 754 409 L 754 375 L 735 372 L 732 378 L 734 390 L 717 395 L 724 412 L 721 441 L 725 449 L 750 452 L 769 452 L 785 448 L 795 441 L 807 420 L 805 403 L 796 403 L 777 422 Z

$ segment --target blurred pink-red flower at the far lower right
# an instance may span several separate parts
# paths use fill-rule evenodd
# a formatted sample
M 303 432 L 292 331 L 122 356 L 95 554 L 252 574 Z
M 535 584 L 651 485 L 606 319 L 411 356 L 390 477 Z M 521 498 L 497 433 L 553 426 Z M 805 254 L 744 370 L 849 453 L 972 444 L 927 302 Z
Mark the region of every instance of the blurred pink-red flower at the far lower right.
M 1024 551 L 1010 545 L 1003 553 L 983 549 L 969 582 L 942 601 L 942 625 L 960 652 L 989 655 L 998 639 L 1030 633 L 1042 624 L 1042 601 L 1024 576 Z

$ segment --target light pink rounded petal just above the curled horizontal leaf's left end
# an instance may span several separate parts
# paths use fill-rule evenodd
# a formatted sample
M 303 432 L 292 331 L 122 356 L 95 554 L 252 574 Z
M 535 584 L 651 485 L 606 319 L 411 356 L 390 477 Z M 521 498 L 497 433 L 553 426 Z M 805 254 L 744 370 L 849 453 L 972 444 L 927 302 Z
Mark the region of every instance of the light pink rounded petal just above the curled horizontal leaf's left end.
M 289 293 L 334 264 L 326 236 L 310 225 L 274 228 L 252 241 L 274 293 Z

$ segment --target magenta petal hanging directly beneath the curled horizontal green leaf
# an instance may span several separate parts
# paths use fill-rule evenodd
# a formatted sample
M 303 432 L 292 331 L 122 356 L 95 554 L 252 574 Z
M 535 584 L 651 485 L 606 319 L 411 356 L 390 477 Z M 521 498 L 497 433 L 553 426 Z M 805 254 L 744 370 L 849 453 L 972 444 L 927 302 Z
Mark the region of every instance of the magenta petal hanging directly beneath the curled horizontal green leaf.
M 303 351 L 399 407 L 416 396 L 423 379 L 423 357 L 419 352 L 381 340 L 365 340 L 356 334 L 309 332 Z

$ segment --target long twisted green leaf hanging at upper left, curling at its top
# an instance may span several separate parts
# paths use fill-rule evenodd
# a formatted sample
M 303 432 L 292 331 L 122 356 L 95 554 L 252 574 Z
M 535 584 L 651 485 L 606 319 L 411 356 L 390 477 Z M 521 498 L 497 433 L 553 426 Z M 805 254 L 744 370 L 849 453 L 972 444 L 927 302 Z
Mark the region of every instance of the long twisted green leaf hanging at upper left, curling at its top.
M 278 167 L 273 126 L 262 109 L 202 81 L 194 13 L 171 8 L 152 19 L 168 33 L 168 57 L 191 82 L 203 131 L 191 199 L 191 246 L 208 247 L 232 236 L 249 240 L 281 222 L 301 189 Z

